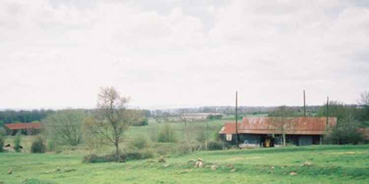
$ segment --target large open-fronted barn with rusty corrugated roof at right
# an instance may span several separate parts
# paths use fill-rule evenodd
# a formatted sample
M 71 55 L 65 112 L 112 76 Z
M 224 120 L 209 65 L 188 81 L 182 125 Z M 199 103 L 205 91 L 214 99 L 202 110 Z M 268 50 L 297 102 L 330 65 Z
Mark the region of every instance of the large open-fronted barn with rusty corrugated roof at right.
M 286 142 L 296 146 L 306 146 L 320 144 L 327 128 L 336 125 L 337 118 L 328 118 L 327 124 L 327 118 L 324 117 L 293 117 L 290 123 L 293 128 L 285 131 Z M 237 128 L 241 148 L 277 147 L 283 144 L 281 131 L 276 128 L 269 117 L 245 117 L 241 123 L 238 123 Z M 236 123 L 225 123 L 219 134 L 224 141 L 235 144 Z

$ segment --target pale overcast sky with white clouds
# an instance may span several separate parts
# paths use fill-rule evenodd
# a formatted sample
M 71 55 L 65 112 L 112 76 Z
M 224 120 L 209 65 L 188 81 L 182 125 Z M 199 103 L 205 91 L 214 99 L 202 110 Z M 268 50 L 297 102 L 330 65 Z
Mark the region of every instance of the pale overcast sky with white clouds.
M 368 0 L 0 0 L 0 109 L 356 103 Z

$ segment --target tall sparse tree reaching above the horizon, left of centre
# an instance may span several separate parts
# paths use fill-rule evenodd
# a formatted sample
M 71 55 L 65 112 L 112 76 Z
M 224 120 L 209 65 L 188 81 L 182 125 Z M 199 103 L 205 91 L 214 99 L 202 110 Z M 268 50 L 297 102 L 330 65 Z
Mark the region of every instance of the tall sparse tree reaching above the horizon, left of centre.
M 117 156 L 123 133 L 142 118 L 139 111 L 127 109 L 128 102 L 129 98 L 121 96 L 114 87 L 101 88 L 95 118 L 85 122 L 88 131 L 103 139 L 106 144 L 115 146 Z

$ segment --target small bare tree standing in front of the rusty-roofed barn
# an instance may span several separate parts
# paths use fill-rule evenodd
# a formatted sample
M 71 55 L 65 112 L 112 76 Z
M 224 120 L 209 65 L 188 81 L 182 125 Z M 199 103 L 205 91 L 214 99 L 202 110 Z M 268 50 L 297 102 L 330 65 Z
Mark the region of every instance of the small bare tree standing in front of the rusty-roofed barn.
M 287 106 L 280 106 L 274 113 L 269 115 L 269 122 L 272 124 L 273 128 L 282 134 L 283 146 L 286 145 L 286 134 L 288 131 L 295 129 L 293 123 L 293 111 Z

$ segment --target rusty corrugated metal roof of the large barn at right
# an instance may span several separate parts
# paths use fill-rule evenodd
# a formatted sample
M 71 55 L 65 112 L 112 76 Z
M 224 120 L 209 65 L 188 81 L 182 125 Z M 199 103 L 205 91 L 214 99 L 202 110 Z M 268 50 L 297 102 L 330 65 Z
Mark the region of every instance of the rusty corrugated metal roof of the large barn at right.
M 322 135 L 326 133 L 326 121 L 324 117 L 293 117 L 291 130 L 287 130 L 288 134 L 312 134 Z M 330 126 L 337 123 L 337 118 L 328 118 Z M 219 133 L 236 133 L 235 122 L 227 122 Z M 254 134 L 270 134 L 281 133 L 271 122 L 269 117 L 247 118 L 245 117 L 238 124 L 238 133 L 254 133 Z

